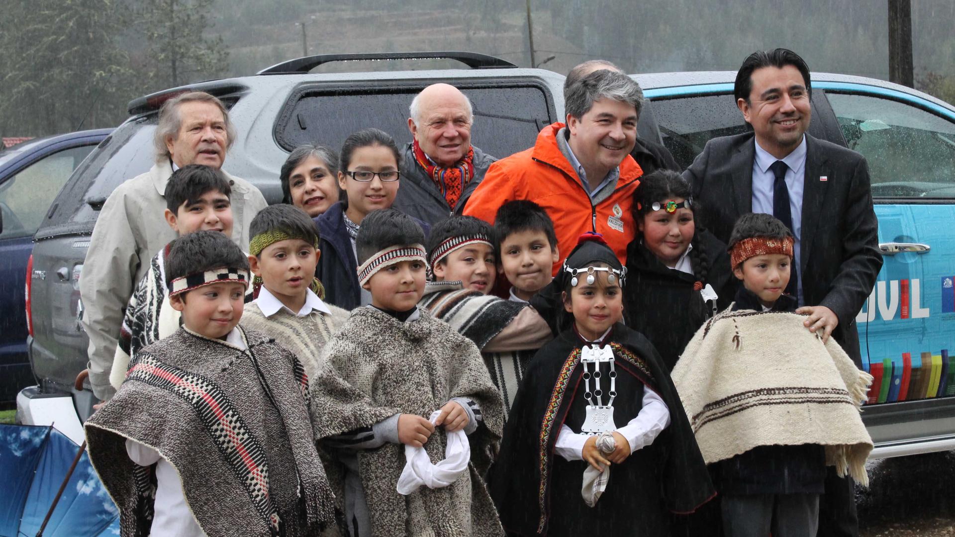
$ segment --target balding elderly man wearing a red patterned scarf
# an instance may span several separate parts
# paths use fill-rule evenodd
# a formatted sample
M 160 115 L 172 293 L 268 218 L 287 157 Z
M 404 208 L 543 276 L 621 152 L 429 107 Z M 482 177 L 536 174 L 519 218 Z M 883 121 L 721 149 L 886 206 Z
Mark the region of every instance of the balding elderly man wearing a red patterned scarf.
M 412 100 L 401 187 L 393 208 L 434 225 L 461 214 L 494 157 L 471 145 L 474 112 L 456 87 L 433 84 Z

